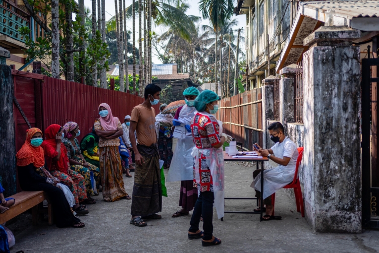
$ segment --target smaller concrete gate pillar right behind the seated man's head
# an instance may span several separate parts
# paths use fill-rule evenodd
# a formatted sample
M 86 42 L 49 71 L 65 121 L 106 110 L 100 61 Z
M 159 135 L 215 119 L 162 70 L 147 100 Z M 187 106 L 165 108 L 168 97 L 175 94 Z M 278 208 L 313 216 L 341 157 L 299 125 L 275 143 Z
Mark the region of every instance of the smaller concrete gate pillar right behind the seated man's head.
M 279 121 L 284 126 L 284 134 L 288 135 L 287 123 L 295 122 L 295 74 L 298 65 L 291 64 L 280 69 L 283 77 L 279 81 Z

